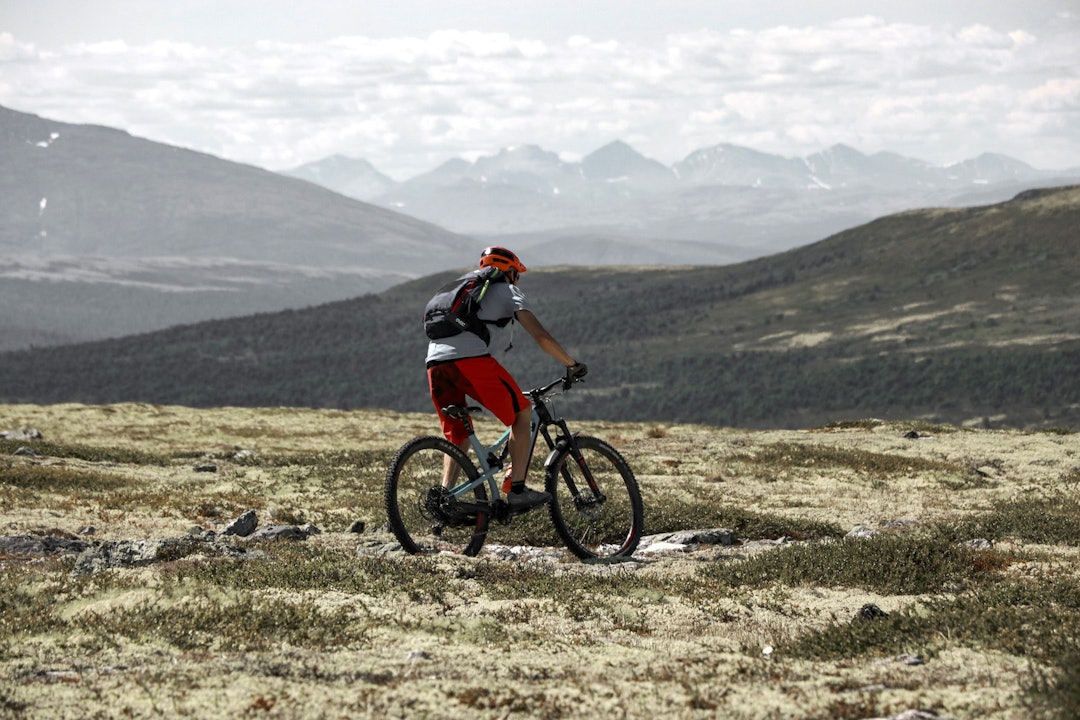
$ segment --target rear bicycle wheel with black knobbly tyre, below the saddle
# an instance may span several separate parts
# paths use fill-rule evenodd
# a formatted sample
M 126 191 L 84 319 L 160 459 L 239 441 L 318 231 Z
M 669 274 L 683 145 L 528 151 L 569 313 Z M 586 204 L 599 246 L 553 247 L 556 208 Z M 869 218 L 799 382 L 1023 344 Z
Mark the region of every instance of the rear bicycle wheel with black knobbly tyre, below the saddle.
M 406 443 L 387 470 L 387 519 L 406 553 L 476 555 L 484 545 L 490 519 L 487 490 L 482 484 L 454 500 L 443 488 L 447 468 L 451 486 L 480 477 L 461 448 L 434 436 Z

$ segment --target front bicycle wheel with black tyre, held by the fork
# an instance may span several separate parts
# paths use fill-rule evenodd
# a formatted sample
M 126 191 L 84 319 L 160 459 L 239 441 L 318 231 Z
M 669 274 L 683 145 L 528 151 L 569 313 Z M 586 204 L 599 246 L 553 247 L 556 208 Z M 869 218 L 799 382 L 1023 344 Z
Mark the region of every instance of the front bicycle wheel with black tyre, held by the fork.
M 645 522 L 634 473 L 599 438 L 580 436 L 575 445 L 556 450 L 548 464 L 551 521 L 567 548 L 582 559 L 629 556 Z

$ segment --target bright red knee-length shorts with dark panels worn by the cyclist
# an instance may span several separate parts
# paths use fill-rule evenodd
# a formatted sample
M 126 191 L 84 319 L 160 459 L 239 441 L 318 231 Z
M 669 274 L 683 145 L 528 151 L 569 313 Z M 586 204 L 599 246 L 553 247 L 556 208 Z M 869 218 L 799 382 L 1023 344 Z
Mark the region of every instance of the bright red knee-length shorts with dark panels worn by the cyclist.
M 443 435 L 455 445 L 460 445 L 468 437 L 465 426 L 460 420 L 444 416 L 443 408 L 465 405 L 465 395 L 508 426 L 514 424 L 517 413 L 529 406 L 514 378 L 490 355 L 433 365 L 428 368 L 428 386 L 431 389 L 431 402 L 435 404 L 443 423 Z

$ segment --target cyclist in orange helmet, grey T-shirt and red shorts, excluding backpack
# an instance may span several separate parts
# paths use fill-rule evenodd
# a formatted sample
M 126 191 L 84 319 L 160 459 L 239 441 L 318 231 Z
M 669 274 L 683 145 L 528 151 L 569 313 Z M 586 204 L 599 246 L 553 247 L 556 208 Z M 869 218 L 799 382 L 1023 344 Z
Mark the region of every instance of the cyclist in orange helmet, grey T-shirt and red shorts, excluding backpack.
M 495 267 L 501 271 L 498 282 L 488 287 L 481 301 L 480 320 L 495 325 L 516 321 L 544 352 L 566 366 L 568 379 L 584 376 L 588 371 L 585 365 L 576 362 L 540 324 L 525 294 L 517 287 L 517 280 L 526 270 L 517 256 L 504 247 L 488 247 L 481 254 L 480 267 Z M 428 344 L 428 385 L 443 434 L 463 450 L 469 449 L 464 423 L 446 417 L 443 408 L 464 405 L 465 395 L 510 427 L 511 468 L 507 500 L 511 510 L 529 510 L 551 501 L 550 493 L 525 486 L 532 407 L 507 368 L 491 355 L 491 342 L 495 340 L 485 343 L 478 335 L 469 331 L 432 340 Z M 451 464 L 449 459 L 447 464 Z M 451 471 L 453 467 L 448 466 L 444 484 L 449 483 Z

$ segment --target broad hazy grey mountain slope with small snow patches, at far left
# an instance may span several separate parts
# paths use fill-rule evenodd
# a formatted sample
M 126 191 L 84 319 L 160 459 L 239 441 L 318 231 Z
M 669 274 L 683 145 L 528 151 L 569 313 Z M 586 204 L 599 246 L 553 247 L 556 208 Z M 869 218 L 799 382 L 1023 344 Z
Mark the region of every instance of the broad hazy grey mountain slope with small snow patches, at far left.
M 310 182 L 0 107 L 0 350 L 354 297 L 476 249 Z

